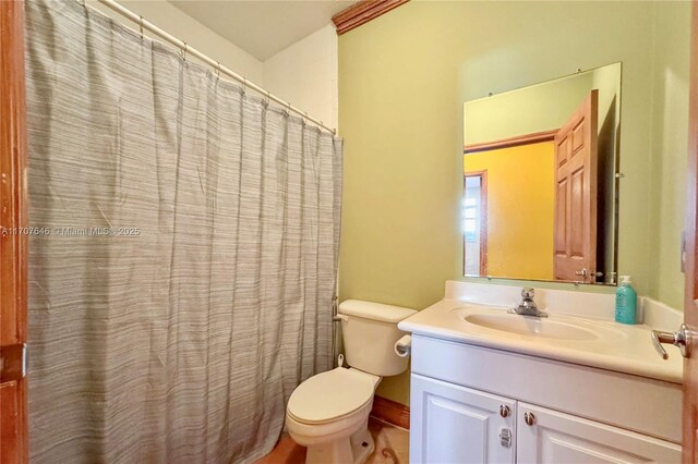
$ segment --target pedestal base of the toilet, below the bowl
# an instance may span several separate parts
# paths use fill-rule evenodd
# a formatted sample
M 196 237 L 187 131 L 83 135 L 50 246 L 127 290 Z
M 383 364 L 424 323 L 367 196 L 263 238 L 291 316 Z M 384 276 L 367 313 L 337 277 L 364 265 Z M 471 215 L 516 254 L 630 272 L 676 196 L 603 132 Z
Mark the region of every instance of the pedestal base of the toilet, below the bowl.
M 366 418 L 351 437 L 308 447 L 305 464 L 363 464 L 373 450 L 375 442 Z

